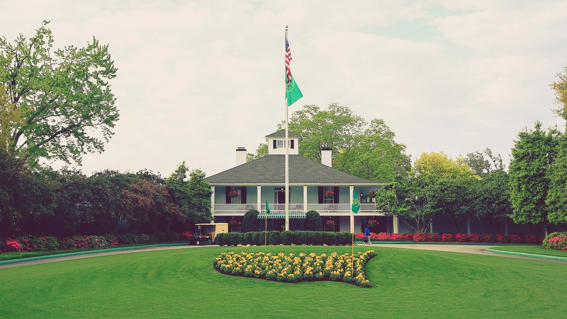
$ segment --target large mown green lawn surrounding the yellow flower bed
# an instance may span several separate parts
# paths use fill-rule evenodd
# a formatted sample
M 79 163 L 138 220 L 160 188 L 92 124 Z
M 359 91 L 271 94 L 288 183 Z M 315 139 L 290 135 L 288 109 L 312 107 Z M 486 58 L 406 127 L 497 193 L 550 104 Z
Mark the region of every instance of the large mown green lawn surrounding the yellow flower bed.
M 198 247 L 0 269 L 1 318 L 564 317 L 567 267 L 500 256 L 386 247 L 373 288 L 280 283 L 214 270 L 221 251 L 350 252 L 345 246 Z

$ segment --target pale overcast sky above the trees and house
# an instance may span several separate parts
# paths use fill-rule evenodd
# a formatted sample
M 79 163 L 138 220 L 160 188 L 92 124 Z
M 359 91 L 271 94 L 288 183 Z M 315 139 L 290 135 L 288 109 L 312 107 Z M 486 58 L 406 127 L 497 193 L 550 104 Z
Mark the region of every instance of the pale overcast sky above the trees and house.
M 521 4 L 521 2 L 523 4 Z M 567 1 L 2 1 L 0 35 L 109 44 L 120 120 L 82 170 L 235 166 L 284 120 L 284 27 L 304 104 L 383 118 L 413 158 L 488 147 L 554 117 Z M 506 165 L 507 166 L 507 165 Z M 58 167 L 57 164 L 54 167 Z

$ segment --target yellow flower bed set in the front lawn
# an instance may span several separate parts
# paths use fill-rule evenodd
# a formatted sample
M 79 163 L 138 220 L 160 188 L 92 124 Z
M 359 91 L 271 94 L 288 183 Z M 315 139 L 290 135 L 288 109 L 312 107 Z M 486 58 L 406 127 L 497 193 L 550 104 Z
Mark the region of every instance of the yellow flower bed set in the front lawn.
M 358 254 L 332 253 L 330 255 L 299 255 L 284 253 L 245 253 L 230 251 L 222 253 L 213 262 L 220 272 L 230 275 L 244 275 L 280 282 L 299 282 L 306 280 L 335 280 L 371 287 L 366 279 L 364 267 L 376 255 L 374 250 Z

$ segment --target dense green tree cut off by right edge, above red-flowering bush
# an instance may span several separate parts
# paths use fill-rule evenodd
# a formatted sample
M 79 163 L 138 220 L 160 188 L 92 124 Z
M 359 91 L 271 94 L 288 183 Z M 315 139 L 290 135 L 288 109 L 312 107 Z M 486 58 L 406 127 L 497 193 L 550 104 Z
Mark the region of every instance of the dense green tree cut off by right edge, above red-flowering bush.
M 549 191 L 545 204 L 548 206 L 549 223 L 567 229 L 567 132 L 559 137 L 557 161 L 549 170 Z

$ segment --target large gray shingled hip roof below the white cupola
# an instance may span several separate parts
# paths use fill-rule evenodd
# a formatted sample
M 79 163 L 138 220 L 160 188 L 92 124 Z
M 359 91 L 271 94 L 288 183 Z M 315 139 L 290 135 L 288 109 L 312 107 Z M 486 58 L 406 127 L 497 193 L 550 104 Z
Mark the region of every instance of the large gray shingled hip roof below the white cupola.
M 268 155 L 205 178 L 211 184 L 257 184 L 285 182 L 285 155 Z M 382 184 L 333 169 L 301 155 L 289 156 L 290 183 Z

